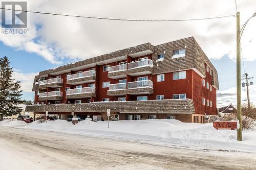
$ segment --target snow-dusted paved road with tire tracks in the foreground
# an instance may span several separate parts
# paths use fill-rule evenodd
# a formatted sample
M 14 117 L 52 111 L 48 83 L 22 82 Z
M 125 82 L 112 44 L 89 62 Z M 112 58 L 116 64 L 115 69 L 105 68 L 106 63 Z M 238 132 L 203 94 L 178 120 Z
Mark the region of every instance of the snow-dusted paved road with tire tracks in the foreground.
M 243 162 L 243 163 L 241 163 Z M 256 156 L 0 127 L 0 169 L 256 169 Z

